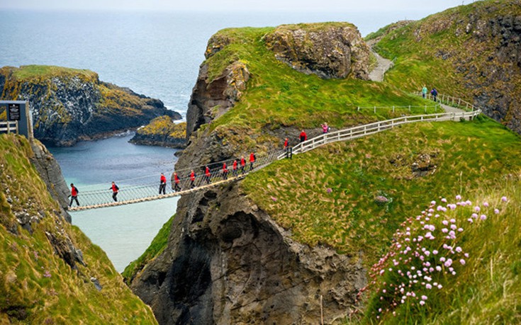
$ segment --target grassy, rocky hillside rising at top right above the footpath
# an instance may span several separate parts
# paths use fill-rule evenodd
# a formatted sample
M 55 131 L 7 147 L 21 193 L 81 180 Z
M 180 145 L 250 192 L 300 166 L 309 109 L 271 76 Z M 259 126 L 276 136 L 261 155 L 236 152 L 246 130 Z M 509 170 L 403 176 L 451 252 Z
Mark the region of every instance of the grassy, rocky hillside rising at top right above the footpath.
M 411 90 L 435 86 L 521 133 L 519 0 L 476 1 L 384 35 L 376 48 L 398 58 L 388 82 Z

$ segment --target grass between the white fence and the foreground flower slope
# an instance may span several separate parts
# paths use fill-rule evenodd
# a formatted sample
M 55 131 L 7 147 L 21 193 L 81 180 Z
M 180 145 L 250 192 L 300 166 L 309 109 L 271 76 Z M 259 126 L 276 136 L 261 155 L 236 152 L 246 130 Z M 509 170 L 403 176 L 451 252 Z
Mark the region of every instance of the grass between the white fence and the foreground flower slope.
M 521 171 L 520 137 L 488 118 L 404 125 L 328 144 L 248 176 L 247 195 L 294 239 L 325 244 L 370 266 L 411 210 L 438 195 L 473 193 Z M 415 177 L 428 156 L 435 168 Z M 331 193 L 327 193 L 327 189 Z M 388 203 L 376 202 L 383 195 Z

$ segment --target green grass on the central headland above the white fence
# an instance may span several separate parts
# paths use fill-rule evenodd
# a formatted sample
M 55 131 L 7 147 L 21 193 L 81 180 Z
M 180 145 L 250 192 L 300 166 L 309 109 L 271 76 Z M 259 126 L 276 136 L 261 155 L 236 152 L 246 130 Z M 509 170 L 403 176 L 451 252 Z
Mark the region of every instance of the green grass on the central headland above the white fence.
M 309 28 L 327 28 L 335 23 L 310 24 Z M 260 130 L 281 126 L 297 128 L 320 127 L 327 122 L 332 127 L 346 127 L 363 122 L 409 114 L 408 110 L 356 110 L 357 106 L 424 106 L 422 101 L 388 84 L 354 79 L 320 79 L 306 75 L 276 60 L 267 49 L 263 36 L 274 28 L 230 28 L 213 36 L 213 45 L 221 47 L 209 57 L 210 81 L 220 76 L 233 62 L 245 64 L 251 74 L 247 89 L 228 113 L 213 121 L 212 130 L 220 126 Z M 434 108 L 430 110 L 434 111 Z M 413 109 L 413 113 L 423 108 Z

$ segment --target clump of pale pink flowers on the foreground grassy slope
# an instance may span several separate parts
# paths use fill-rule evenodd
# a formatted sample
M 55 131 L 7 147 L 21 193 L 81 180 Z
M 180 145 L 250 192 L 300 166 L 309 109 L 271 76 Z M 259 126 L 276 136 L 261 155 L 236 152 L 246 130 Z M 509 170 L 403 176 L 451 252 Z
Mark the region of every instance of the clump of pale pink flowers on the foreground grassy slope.
M 456 277 L 471 258 L 464 249 L 465 228 L 486 222 L 489 212 L 499 210 L 487 202 L 473 205 L 456 195 L 456 203 L 445 198 L 439 204 L 432 201 L 420 215 L 400 224 L 389 251 L 371 268 L 369 285 L 359 292 L 371 291 L 372 316 L 396 315 L 402 305 L 425 308 L 429 297 L 444 290 L 449 278 Z

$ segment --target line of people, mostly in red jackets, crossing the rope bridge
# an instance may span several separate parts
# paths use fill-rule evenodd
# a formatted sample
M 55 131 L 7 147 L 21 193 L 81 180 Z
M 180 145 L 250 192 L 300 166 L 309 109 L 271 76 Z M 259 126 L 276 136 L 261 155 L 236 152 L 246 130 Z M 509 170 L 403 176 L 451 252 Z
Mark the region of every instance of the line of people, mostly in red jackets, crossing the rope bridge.
M 327 125 L 327 123 L 323 123 L 323 125 L 321 125 L 321 127 L 322 127 L 323 133 L 330 132 L 330 127 L 329 127 L 329 125 Z M 298 138 L 300 139 L 300 142 L 306 141 L 308 139 L 308 135 L 306 134 L 306 131 L 302 130 L 302 132 Z M 286 152 L 286 155 L 290 152 L 290 149 L 291 149 L 291 147 L 289 147 L 289 139 L 286 137 L 286 139 L 284 139 L 284 152 Z M 250 153 L 250 157 L 248 159 L 248 162 L 250 163 L 249 171 L 252 171 L 254 169 L 254 163 L 256 160 L 257 160 L 257 157 L 255 156 L 255 154 L 253 152 Z M 228 174 L 230 172 L 232 173 L 232 175 L 234 177 L 238 176 L 239 173 L 245 174 L 246 173 L 246 164 L 247 164 L 247 161 L 245 159 L 245 156 L 241 156 L 240 159 L 236 158 L 233 160 L 233 163 L 231 166 L 231 171 L 230 171 L 230 169 L 228 169 L 226 162 L 223 162 L 222 168 L 219 168 L 219 169 L 211 170 L 210 167 L 205 166 L 204 174 L 203 174 L 203 181 L 206 182 L 206 184 L 210 184 L 211 181 L 213 179 L 215 179 L 215 177 L 218 177 L 218 176 L 215 176 L 215 174 L 220 174 L 220 177 L 223 180 L 228 179 Z M 188 188 L 190 188 L 190 189 L 195 188 L 197 177 L 198 176 L 197 176 L 196 172 L 194 171 L 194 169 L 191 169 L 190 173 L 185 178 L 181 178 L 177 174 L 177 171 L 174 171 L 174 175 L 172 176 L 172 182 L 174 183 L 174 187 L 172 189 L 175 192 L 181 191 L 182 190 L 181 181 L 183 181 L 183 183 L 187 183 L 186 185 L 188 186 Z M 167 177 L 164 176 L 164 173 L 161 173 L 161 176 L 159 177 L 159 195 L 166 194 L 166 188 L 167 188 Z M 112 182 L 112 185 L 110 188 L 108 188 L 108 190 L 112 191 L 112 200 L 114 202 L 118 202 L 119 188 L 116 185 L 116 183 Z M 74 186 L 74 184 L 71 183 L 71 193 L 69 195 L 71 199 L 69 202 L 69 207 L 72 207 L 72 203 L 74 201 L 79 206 L 78 193 L 79 193 L 78 188 L 76 188 L 76 186 Z

